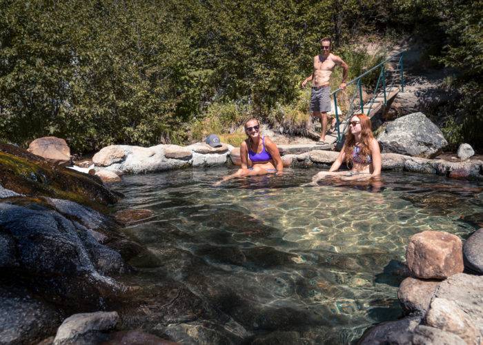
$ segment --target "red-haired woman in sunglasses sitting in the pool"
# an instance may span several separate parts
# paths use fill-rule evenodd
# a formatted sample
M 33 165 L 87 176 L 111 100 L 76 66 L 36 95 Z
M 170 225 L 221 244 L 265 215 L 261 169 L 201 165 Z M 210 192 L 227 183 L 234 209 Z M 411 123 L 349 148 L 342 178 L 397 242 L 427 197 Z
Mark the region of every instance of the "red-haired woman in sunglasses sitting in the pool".
M 321 171 L 312 178 L 313 183 L 325 177 L 348 180 L 366 180 L 381 175 L 381 151 L 371 129 L 371 119 L 355 114 L 349 122 L 346 142 L 328 171 Z M 337 171 L 342 162 L 352 166 L 350 171 Z

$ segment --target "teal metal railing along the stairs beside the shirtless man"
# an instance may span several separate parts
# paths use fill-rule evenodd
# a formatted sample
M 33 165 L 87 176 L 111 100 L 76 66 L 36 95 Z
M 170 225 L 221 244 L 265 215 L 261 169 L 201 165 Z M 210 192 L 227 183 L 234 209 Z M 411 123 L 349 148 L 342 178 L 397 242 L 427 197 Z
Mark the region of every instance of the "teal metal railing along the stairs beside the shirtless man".
M 352 97 L 349 98 L 349 109 L 346 112 L 346 119 L 350 119 L 353 113 L 355 112 L 355 104 L 357 104 L 357 101 L 355 101 L 355 97 L 357 97 L 357 94 L 359 96 L 359 106 L 357 108 L 360 109 L 360 112 L 362 114 L 368 115 L 375 103 L 375 100 L 378 95 L 382 93 L 384 97 L 383 104 L 384 106 L 387 106 L 387 101 L 388 101 L 388 95 L 391 94 L 391 92 L 394 90 L 394 88 L 400 88 L 402 92 L 404 92 L 404 64 L 403 64 L 403 58 L 404 58 L 404 52 L 406 50 L 403 50 L 402 52 L 397 52 L 395 55 L 389 57 L 388 59 L 382 61 L 381 63 L 377 64 L 373 68 L 370 68 L 369 70 L 366 70 L 366 72 L 362 73 L 362 75 L 359 75 L 359 77 L 355 77 L 348 83 L 346 83 L 346 89 L 348 86 L 351 86 L 355 84 L 355 90 L 354 94 Z M 386 64 L 390 62 L 395 62 L 394 60 L 396 58 L 399 58 L 397 61 L 397 66 L 394 70 L 388 70 L 386 68 Z M 379 77 L 377 78 L 377 83 L 375 84 L 375 88 L 373 89 L 373 97 L 369 99 L 365 104 L 364 104 L 364 99 L 362 97 L 362 78 L 366 77 L 369 75 L 371 72 L 374 70 L 377 70 L 380 68 L 380 73 Z M 389 83 L 388 83 L 389 81 Z M 339 92 L 343 92 L 341 88 L 338 88 L 337 90 L 333 91 L 331 93 L 331 96 L 334 99 L 334 107 L 335 107 L 335 120 L 337 121 L 336 127 L 337 128 L 337 143 L 340 143 L 342 141 L 342 136 L 346 132 L 346 128 L 348 126 L 348 121 L 345 121 L 345 126 L 344 129 L 340 130 L 340 120 L 339 120 L 339 111 L 337 110 L 337 95 Z M 365 110 L 364 110 L 365 109 Z

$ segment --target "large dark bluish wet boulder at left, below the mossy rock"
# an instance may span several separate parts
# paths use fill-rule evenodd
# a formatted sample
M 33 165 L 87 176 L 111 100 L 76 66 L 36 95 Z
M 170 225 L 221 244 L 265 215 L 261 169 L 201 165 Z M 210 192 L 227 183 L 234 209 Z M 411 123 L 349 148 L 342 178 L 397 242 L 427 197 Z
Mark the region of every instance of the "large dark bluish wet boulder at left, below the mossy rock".
M 103 245 L 56 210 L 40 204 L 32 208 L 0 203 L 0 234 L 15 248 L 15 256 L 10 252 L 4 264 L 12 266 L 13 260 L 15 274 L 31 277 L 37 293 L 66 306 L 97 308 L 102 298 L 119 293 L 121 286 L 99 274 L 91 259 L 90 246 Z

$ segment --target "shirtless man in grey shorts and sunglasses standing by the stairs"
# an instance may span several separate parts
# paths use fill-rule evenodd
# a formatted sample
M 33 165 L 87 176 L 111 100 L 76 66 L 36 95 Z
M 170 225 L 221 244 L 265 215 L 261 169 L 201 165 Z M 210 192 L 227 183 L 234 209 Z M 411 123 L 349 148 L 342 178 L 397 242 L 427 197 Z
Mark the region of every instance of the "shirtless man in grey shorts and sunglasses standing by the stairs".
M 327 112 L 331 111 L 331 74 L 335 66 L 341 66 L 342 83 L 339 88 L 346 88 L 346 79 L 349 66 L 337 55 L 331 53 L 331 39 L 324 37 L 320 40 L 322 54 L 314 57 L 314 71 L 311 75 L 302 81 L 301 87 L 305 88 L 308 81 L 312 81 L 311 106 L 309 111 L 313 112 L 312 116 L 320 119 L 322 123 L 322 132 L 317 144 L 326 144 L 327 132 Z M 335 118 L 333 118 L 332 126 L 335 126 Z

